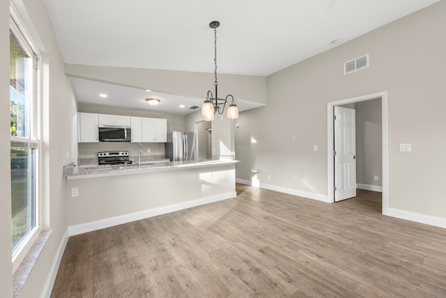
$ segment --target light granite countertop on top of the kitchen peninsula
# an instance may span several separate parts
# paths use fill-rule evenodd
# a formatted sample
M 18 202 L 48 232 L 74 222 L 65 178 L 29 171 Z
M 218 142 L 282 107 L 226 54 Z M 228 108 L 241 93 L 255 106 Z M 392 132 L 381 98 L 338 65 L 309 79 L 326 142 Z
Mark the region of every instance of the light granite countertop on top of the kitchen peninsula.
M 83 179 L 121 174 L 180 170 L 192 167 L 213 167 L 239 162 L 240 161 L 233 159 L 213 159 L 205 161 L 146 161 L 141 162 L 141 165 L 66 165 L 63 167 L 63 176 L 66 177 L 66 179 Z

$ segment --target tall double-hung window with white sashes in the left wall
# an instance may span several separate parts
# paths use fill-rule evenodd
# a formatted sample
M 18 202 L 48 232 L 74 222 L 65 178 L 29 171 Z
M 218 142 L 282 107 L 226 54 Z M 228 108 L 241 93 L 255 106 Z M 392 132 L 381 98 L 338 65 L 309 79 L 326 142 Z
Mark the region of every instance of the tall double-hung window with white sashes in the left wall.
M 10 158 L 13 268 L 40 232 L 38 218 L 38 57 L 15 20 L 10 24 Z M 23 28 L 20 26 L 20 28 Z

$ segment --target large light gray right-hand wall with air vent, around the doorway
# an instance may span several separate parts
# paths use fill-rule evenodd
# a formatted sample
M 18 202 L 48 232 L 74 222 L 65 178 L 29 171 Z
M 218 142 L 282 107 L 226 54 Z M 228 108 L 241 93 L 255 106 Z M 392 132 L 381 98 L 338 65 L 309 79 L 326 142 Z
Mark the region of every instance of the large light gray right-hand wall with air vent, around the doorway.
M 327 103 L 388 91 L 388 207 L 446 218 L 445 15 L 440 1 L 268 76 L 268 105 L 237 120 L 237 178 L 327 195 Z M 343 74 L 366 53 L 369 68 Z

